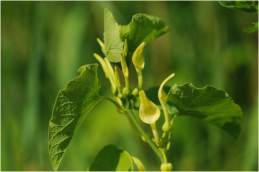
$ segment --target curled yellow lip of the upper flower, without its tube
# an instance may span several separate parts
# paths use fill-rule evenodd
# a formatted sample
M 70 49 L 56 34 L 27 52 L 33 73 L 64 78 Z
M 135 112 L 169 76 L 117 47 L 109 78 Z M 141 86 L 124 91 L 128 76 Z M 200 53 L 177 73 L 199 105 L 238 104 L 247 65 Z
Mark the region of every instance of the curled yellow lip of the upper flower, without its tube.
M 138 48 L 136 49 L 136 51 L 134 52 L 133 56 L 132 56 L 132 62 L 134 64 L 134 66 L 140 70 L 144 69 L 144 57 L 143 57 L 143 47 L 146 45 L 145 42 L 142 42 L 142 44 L 140 44 L 140 46 L 138 46 Z

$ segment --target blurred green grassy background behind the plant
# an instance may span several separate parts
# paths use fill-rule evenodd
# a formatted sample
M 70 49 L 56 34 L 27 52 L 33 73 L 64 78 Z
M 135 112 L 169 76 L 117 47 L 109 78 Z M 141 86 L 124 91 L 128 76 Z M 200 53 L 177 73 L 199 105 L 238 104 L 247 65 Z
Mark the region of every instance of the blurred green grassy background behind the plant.
M 98 63 L 93 53 L 103 56 L 96 38 L 103 40 L 104 8 L 121 25 L 146 13 L 170 28 L 144 47 L 143 89 L 175 73 L 167 85 L 213 85 L 244 112 L 237 140 L 195 118 L 176 118 L 168 154 L 173 170 L 258 171 L 258 32 L 242 31 L 258 21 L 258 13 L 227 9 L 218 1 L 1 1 L 1 171 L 53 171 L 53 105 L 80 66 Z M 130 82 L 137 85 L 132 66 Z M 99 94 L 112 97 L 100 66 L 98 78 Z M 138 157 L 148 171 L 160 170 L 160 160 L 127 118 L 103 100 L 77 130 L 59 171 L 85 171 L 107 144 Z

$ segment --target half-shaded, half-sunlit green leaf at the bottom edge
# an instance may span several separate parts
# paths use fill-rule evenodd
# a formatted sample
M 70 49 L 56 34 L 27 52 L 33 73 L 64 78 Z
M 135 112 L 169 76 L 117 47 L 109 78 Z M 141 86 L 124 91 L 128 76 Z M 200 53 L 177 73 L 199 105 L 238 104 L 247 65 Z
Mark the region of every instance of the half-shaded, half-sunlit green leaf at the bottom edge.
M 99 151 L 87 171 L 133 171 L 133 162 L 125 150 L 107 145 Z

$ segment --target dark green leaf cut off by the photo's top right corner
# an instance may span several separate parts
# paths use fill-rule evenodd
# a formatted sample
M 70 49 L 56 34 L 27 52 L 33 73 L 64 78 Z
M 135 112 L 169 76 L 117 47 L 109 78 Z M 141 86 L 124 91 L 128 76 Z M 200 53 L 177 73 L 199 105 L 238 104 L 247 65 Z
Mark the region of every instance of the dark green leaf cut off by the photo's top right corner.
M 230 9 L 243 10 L 248 13 L 258 12 L 258 1 L 219 1 L 219 3 Z

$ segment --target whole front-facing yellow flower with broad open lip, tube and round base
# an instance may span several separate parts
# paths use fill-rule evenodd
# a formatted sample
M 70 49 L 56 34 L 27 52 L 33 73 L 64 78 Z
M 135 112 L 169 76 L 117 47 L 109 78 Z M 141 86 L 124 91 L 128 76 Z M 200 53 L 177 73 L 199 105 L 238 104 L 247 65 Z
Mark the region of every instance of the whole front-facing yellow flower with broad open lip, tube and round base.
M 165 148 L 166 142 L 161 142 L 157 129 L 156 129 L 156 120 L 160 117 L 160 109 L 154 104 L 152 101 L 150 101 L 146 97 L 146 93 L 143 90 L 139 91 L 139 99 L 140 99 L 140 107 L 139 107 L 139 117 L 140 119 L 150 124 L 152 132 L 154 134 L 154 138 L 156 140 L 156 146 L 158 148 Z

